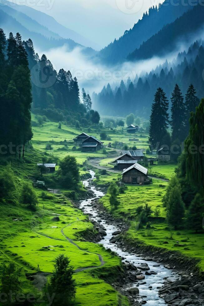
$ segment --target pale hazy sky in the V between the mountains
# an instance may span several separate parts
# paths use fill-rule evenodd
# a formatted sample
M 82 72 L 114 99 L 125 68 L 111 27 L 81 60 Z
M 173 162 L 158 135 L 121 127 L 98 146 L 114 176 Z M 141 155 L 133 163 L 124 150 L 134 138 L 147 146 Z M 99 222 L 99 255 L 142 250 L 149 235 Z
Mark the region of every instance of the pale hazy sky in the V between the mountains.
M 164 0 L 9 0 L 44 12 L 95 42 L 98 49 L 119 38 Z

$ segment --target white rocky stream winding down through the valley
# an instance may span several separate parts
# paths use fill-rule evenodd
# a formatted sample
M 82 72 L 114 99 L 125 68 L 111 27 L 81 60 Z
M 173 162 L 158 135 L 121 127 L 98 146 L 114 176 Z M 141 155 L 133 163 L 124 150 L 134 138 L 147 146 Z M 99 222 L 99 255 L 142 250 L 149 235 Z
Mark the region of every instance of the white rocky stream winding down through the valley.
M 90 174 L 92 176 L 92 180 L 95 177 L 95 173 L 93 171 L 90 171 Z M 85 186 L 89 185 L 89 181 L 83 181 Z M 158 295 L 158 287 L 162 287 L 163 283 L 164 283 L 164 278 L 170 279 L 171 281 L 174 281 L 176 279 L 179 278 L 179 276 L 175 273 L 175 271 L 171 270 L 171 269 L 166 269 L 163 264 L 160 264 L 159 267 L 154 267 L 154 265 L 158 265 L 157 262 L 153 262 L 153 261 L 145 261 L 143 260 L 141 257 L 139 257 L 138 255 L 135 255 L 133 253 L 129 253 L 129 252 L 124 252 L 122 249 L 120 249 L 117 244 L 115 243 L 110 243 L 110 239 L 113 237 L 112 234 L 116 231 L 119 230 L 119 228 L 117 228 L 115 225 L 111 225 L 111 224 L 107 224 L 107 222 L 105 220 L 103 220 L 101 217 L 98 216 L 99 211 L 97 211 L 94 207 L 91 206 L 87 206 L 87 205 L 91 205 L 92 200 L 95 198 L 99 198 L 101 196 L 104 196 L 104 193 L 101 191 L 97 191 L 96 188 L 94 186 L 90 187 L 91 190 L 94 192 L 95 197 L 88 199 L 87 200 L 83 200 L 80 203 L 80 208 L 83 209 L 83 212 L 85 214 L 89 214 L 90 215 L 90 220 L 94 220 L 94 221 L 98 221 L 98 220 L 102 220 L 102 222 L 100 222 L 101 225 L 103 225 L 103 227 L 106 229 L 106 233 L 107 236 L 104 236 L 104 240 L 101 240 L 99 243 L 103 244 L 104 247 L 106 249 L 110 248 L 112 251 L 116 252 L 120 257 L 124 257 L 125 259 L 123 260 L 123 262 L 128 261 L 131 264 L 135 264 L 135 265 L 140 265 L 140 264 L 146 264 L 148 263 L 148 266 L 150 268 L 150 271 L 154 271 L 157 274 L 154 275 L 145 275 L 145 279 L 141 282 L 127 282 L 124 286 L 123 289 L 129 289 L 131 287 L 136 287 L 139 283 L 141 283 L 138 287 L 139 289 L 139 296 L 140 299 L 145 300 L 147 303 L 146 305 L 148 306 L 165 306 L 165 302 L 163 299 L 159 298 Z M 149 288 L 152 287 L 152 288 Z M 137 299 L 137 300 L 140 300 Z

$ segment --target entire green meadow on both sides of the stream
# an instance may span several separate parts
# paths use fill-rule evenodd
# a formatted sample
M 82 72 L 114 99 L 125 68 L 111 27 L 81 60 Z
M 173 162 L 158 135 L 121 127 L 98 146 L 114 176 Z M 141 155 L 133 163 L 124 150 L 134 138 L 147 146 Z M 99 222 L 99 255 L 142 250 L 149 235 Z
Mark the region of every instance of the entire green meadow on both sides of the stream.
M 50 121 L 40 126 L 34 115 L 32 115 L 32 122 L 36 123 L 33 126 L 32 148 L 26 151 L 25 159 L 19 161 L 10 158 L 5 163 L 1 162 L 0 165 L 0 171 L 2 171 L 6 164 L 11 164 L 19 186 L 25 180 L 30 182 L 33 180 L 36 172 L 39 171 L 36 164 L 41 162 L 42 156 L 47 156 L 53 162 L 56 160 L 56 170 L 59 168 L 59 160 L 66 155 L 75 156 L 80 165 L 81 175 L 86 174 L 89 167 L 94 169 L 91 159 L 98 158 L 97 165 L 108 170 L 106 175 L 100 175 L 100 171 L 95 169 L 99 174 L 95 184 L 100 187 L 108 188 L 110 182 L 120 178 L 120 173 L 111 172 L 113 165 L 110 163 L 120 155 L 122 146 L 106 147 L 106 152 L 83 153 L 79 147 L 75 147 L 73 141 L 73 138 L 82 132 L 81 130 L 64 124 L 59 129 L 58 123 Z M 83 131 L 100 139 L 101 131 L 98 128 L 83 129 Z M 115 141 L 121 141 L 129 147 L 148 148 L 147 134 L 132 136 L 127 134 L 125 128 L 123 132 L 119 128 L 114 131 L 108 129 L 105 131 L 111 139 L 111 141 L 104 141 L 105 146 L 108 146 L 109 142 L 113 144 Z M 138 138 L 139 141 L 129 141 L 132 137 Z M 51 145 L 51 150 L 46 149 L 48 143 Z M 85 163 L 87 159 L 89 159 L 88 164 Z M 129 224 L 129 230 L 124 234 L 129 241 L 178 251 L 187 257 L 196 258 L 199 261 L 198 267 L 204 271 L 203 235 L 194 234 L 190 230 L 170 232 L 165 222 L 166 211 L 162 205 L 162 198 L 168 180 L 175 173 L 176 166 L 173 163 L 154 162 L 154 165 L 149 167 L 153 184 L 128 185 L 125 193 L 119 195 L 120 204 L 118 209 L 113 211 L 113 215 Z M 46 178 L 49 182 L 49 174 Z M 46 199 L 42 198 L 40 189 L 35 190 L 38 196 L 36 212 L 20 204 L 9 204 L 6 207 L 4 203 L 0 204 L 4 216 L 0 232 L 0 263 L 13 261 L 19 267 L 22 266 L 25 273 L 36 272 L 39 264 L 42 272 L 51 273 L 56 256 L 66 254 L 75 270 L 74 278 L 77 284 L 75 304 L 128 305 L 127 300 L 110 285 L 122 273 L 120 259 L 105 250 L 102 245 L 87 242 L 86 237 L 95 234 L 94 226 L 89 222 L 88 217 L 81 210 L 76 209 L 71 200 L 63 195 L 68 190 L 62 190 L 63 194 L 59 195 L 47 193 Z M 81 192 L 84 191 L 81 185 Z M 111 211 L 108 194 L 100 201 L 107 210 Z M 146 203 L 153 211 L 150 217 L 152 226 L 150 232 L 145 227 L 138 229 L 136 209 Z M 59 216 L 60 221 L 53 220 L 56 216 Z M 22 221 L 13 221 L 18 218 L 22 218 Z M 168 241 L 168 244 L 163 244 L 164 241 Z M 178 249 L 174 246 L 177 241 L 185 246 Z M 103 262 L 100 261 L 99 255 Z M 25 292 L 35 291 L 32 282 L 25 276 L 22 276 L 22 280 Z

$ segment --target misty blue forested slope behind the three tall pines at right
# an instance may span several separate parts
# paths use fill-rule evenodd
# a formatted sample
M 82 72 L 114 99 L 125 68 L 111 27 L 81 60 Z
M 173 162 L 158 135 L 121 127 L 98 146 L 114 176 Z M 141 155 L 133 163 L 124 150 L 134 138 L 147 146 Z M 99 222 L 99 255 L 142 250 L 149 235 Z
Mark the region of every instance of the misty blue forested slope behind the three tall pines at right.
M 166 60 L 150 73 L 143 71 L 140 76 L 136 75 L 134 80 L 122 80 L 116 87 L 115 84 L 104 86 L 99 94 L 92 95 L 94 107 L 106 115 L 124 116 L 137 112 L 138 116 L 147 118 L 158 87 L 163 88 L 170 101 L 176 83 L 183 95 L 186 94 L 188 86 L 193 84 L 197 97 L 201 99 L 204 96 L 203 70 L 204 42 L 201 40 L 178 53 L 172 62 Z

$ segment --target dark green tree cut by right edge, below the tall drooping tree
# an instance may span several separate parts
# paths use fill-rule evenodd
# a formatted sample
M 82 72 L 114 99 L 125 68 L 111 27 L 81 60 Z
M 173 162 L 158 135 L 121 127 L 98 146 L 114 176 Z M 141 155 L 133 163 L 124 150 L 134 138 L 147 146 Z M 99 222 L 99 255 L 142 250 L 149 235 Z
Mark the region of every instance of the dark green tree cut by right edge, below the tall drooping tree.
M 197 194 L 192 201 L 187 219 L 187 226 L 190 229 L 198 231 L 203 230 L 203 217 L 204 217 L 204 200 L 200 194 Z

